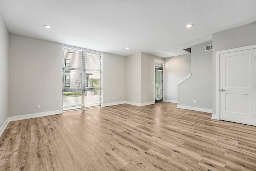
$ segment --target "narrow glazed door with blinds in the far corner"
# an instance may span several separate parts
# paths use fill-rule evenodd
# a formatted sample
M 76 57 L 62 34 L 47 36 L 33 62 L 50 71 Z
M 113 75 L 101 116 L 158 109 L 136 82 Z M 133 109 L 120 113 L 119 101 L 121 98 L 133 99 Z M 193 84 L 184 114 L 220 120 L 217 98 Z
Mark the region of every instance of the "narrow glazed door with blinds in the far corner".
M 155 60 L 155 101 L 163 99 L 163 63 Z

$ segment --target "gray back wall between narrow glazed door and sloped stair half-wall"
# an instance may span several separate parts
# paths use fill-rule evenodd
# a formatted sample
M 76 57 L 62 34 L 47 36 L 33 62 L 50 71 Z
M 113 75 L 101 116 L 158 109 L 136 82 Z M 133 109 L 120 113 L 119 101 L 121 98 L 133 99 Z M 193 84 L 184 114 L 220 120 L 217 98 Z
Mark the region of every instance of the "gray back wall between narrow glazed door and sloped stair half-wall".
M 178 84 L 191 73 L 191 54 L 164 58 L 164 99 L 178 101 Z

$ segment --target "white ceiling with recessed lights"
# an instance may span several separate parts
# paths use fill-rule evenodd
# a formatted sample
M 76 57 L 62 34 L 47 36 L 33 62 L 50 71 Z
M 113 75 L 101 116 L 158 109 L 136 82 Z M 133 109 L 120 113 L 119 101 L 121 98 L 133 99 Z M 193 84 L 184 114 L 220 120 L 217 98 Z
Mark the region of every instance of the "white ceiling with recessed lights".
M 213 33 L 255 22 L 256 0 L 0 0 L 0 14 L 10 33 L 167 58 L 210 42 Z

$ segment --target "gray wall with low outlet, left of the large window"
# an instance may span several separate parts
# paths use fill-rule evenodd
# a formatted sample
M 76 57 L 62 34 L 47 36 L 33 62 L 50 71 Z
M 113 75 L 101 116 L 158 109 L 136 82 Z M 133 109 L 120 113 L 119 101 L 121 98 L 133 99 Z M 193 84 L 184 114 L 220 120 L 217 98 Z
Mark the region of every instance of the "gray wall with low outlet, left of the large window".
M 62 44 L 10 34 L 9 73 L 9 116 L 62 110 Z

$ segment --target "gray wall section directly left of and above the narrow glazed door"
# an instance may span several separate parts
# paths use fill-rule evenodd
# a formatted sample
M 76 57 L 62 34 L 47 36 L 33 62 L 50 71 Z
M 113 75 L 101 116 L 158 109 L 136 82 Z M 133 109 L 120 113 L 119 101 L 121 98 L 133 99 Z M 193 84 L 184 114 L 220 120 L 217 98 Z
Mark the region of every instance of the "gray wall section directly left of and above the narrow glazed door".
M 164 58 L 141 53 L 141 103 L 154 101 L 154 59 Z

